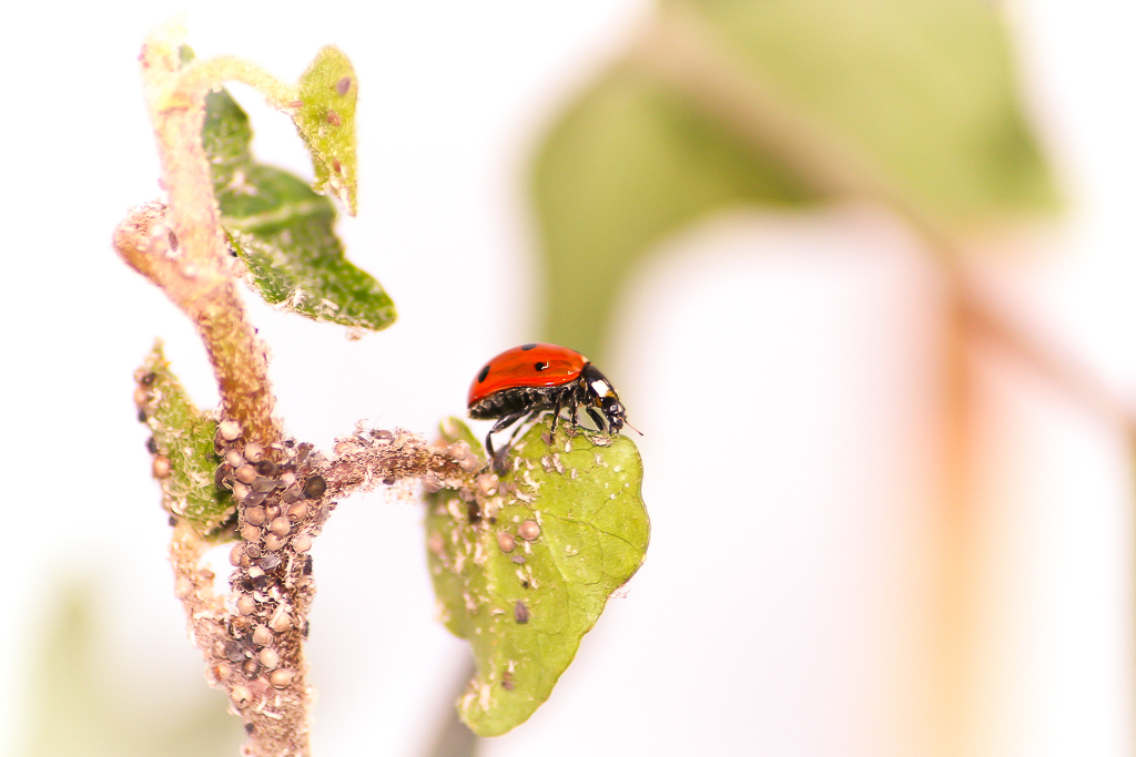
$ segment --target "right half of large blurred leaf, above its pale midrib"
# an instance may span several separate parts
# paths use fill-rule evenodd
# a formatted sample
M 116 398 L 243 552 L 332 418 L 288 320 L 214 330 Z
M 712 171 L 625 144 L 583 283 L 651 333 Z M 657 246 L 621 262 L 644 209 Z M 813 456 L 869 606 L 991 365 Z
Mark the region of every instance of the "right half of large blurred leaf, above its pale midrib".
M 901 202 L 968 230 L 1056 205 L 1004 15 L 979 0 L 666 0 Z M 828 146 L 828 145 L 821 145 Z M 838 154 L 834 151 L 830 154 Z

